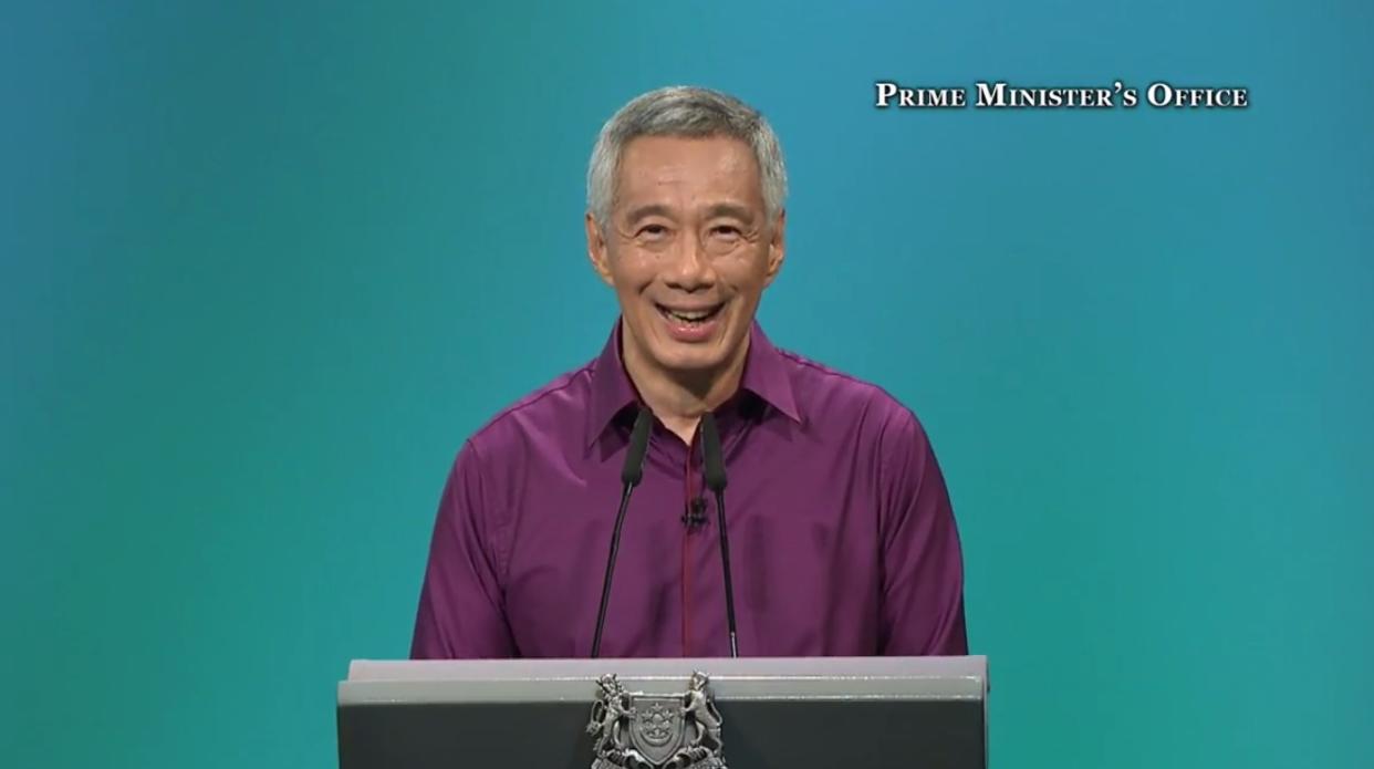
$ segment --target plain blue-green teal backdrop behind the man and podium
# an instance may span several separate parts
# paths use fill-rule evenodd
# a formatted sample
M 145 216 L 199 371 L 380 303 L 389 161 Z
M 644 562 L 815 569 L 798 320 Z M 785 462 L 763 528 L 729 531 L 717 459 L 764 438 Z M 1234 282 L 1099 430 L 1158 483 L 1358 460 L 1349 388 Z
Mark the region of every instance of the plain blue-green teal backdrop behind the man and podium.
M 1367 4 L 10 4 L 0 764 L 335 765 L 463 438 L 592 357 L 616 107 L 783 140 L 761 319 L 930 431 L 993 765 L 1374 766 Z M 879 111 L 872 82 L 1243 85 Z

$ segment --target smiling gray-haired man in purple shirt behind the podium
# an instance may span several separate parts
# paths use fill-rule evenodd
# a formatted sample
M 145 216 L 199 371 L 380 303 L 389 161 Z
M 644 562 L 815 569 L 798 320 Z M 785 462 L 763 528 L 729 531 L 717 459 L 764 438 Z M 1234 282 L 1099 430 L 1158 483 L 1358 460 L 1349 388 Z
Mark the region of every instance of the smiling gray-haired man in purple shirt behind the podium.
M 767 121 L 665 88 L 602 129 L 587 251 L 621 317 L 588 365 L 458 453 L 414 658 L 591 654 L 631 426 L 654 416 L 602 656 L 728 656 L 701 420 L 719 424 L 741 656 L 967 654 L 949 498 L 916 417 L 776 349 L 754 320 L 785 253 Z

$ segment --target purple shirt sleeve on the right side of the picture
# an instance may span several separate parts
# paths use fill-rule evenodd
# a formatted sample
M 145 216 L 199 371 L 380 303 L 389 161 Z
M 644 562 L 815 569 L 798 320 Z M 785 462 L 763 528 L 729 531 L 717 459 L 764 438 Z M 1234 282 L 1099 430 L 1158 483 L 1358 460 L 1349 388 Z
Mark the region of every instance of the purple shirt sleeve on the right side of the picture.
M 915 415 L 904 408 L 888 422 L 879 444 L 879 654 L 966 655 L 963 556 L 934 450 Z

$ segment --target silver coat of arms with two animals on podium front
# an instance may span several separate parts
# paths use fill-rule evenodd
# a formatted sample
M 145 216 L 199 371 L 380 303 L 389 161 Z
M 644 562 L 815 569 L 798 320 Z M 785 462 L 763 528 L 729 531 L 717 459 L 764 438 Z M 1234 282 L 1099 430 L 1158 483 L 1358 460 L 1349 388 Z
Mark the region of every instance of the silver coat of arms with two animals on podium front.
M 592 769 L 725 769 L 709 682 L 692 673 L 680 695 L 646 695 L 602 676 L 587 724 Z

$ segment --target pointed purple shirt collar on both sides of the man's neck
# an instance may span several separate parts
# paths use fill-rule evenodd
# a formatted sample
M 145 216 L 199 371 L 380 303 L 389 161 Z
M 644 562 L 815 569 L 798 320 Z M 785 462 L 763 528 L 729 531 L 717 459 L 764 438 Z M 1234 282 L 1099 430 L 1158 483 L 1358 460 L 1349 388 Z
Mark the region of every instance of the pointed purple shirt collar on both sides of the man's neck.
M 591 446 L 606 431 L 606 427 L 628 406 L 639 402 L 629 375 L 620 354 L 621 321 L 616 320 L 610 339 L 591 371 L 591 408 L 587 412 L 587 445 Z M 749 353 L 745 357 L 745 372 L 739 382 L 741 390 L 760 397 L 793 422 L 801 422 L 797 400 L 791 391 L 786 361 L 778 347 L 764 335 L 758 321 L 749 328 Z

